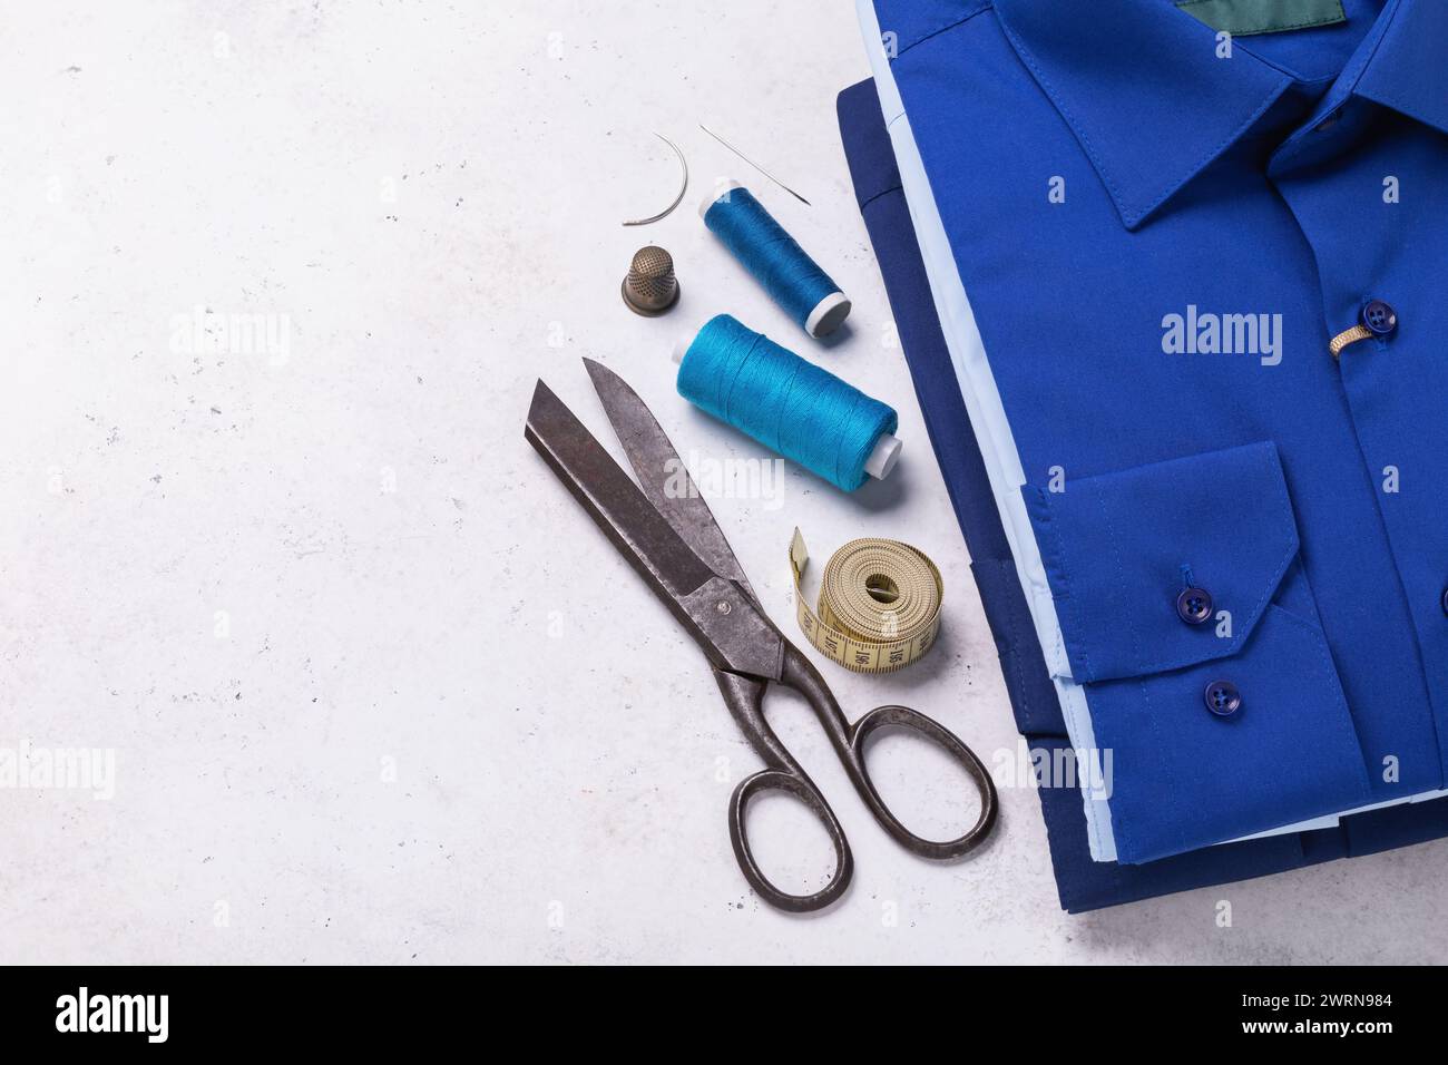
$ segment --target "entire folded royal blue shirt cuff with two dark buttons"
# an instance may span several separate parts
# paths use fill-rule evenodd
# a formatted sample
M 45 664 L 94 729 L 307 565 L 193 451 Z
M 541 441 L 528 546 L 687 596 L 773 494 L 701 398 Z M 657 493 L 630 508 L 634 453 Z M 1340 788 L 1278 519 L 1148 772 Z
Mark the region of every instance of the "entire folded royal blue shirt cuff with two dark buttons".
M 1022 494 L 1118 861 L 1370 801 L 1273 443 Z

